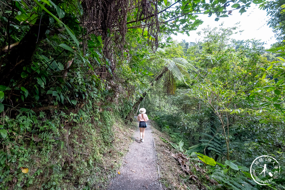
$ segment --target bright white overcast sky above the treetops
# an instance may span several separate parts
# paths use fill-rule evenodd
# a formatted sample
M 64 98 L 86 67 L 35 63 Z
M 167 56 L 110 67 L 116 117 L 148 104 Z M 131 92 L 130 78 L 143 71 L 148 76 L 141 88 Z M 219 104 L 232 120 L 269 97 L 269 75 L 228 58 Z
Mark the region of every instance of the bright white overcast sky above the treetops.
M 232 15 L 229 17 L 222 17 L 219 21 L 215 21 L 215 15 L 213 14 L 211 17 L 207 15 L 199 15 L 197 19 L 204 21 L 203 24 L 198 26 L 197 30 L 189 31 L 190 36 L 187 34 L 178 33 L 177 36 L 171 35 L 174 40 L 181 41 L 185 39 L 186 42 L 195 42 L 200 39 L 203 40 L 203 36 L 198 36 L 197 32 L 202 31 L 202 28 L 206 28 L 209 25 L 211 28 L 219 27 L 219 24 L 224 22 L 223 26 L 225 28 L 234 26 L 236 23 L 240 22 L 239 30 L 244 30 L 243 32 L 239 32 L 237 34 L 233 34 L 232 38 L 236 40 L 247 40 L 253 39 L 261 40 L 261 42 L 265 42 L 264 47 L 266 49 L 270 48 L 270 45 L 277 42 L 276 38 L 274 37 L 274 33 L 272 32 L 272 28 L 269 28 L 267 25 L 267 21 L 270 17 L 266 16 L 266 11 L 258 9 L 259 5 L 255 5 L 251 3 L 251 7 L 247 9 L 247 12 L 239 13 L 239 10 L 234 10 Z

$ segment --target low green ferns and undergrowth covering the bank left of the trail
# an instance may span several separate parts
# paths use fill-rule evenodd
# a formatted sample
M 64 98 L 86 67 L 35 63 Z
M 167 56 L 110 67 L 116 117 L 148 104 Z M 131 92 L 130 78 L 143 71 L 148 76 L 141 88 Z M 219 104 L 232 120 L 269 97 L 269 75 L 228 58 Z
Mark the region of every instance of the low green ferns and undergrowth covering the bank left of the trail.
M 102 107 L 89 102 L 78 113 L 28 111 L 1 118 L 7 135 L 0 141 L 0 189 L 82 189 L 101 182 L 97 163 L 113 148 L 119 118 Z

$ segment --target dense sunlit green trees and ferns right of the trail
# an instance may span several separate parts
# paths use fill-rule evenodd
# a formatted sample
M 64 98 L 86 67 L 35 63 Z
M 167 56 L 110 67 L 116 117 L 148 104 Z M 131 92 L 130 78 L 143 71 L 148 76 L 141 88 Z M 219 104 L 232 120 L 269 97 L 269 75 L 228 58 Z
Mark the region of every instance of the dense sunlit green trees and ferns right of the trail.
M 270 62 L 258 41 L 245 41 L 236 48 L 235 40 L 230 40 L 235 29 L 205 28 L 204 42 L 184 48 L 181 55 L 198 71 L 189 72 L 186 84 L 177 81 L 172 94 L 159 91 L 158 84 L 143 106 L 174 142 L 183 139 L 184 147 L 196 145 L 187 154 L 200 152 L 224 165 L 231 160 L 244 168 L 236 172 L 208 166 L 224 188 L 267 189 L 252 179 L 247 181 L 247 172 L 261 155 L 274 155 L 284 165 L 284 48 L 271 49 L 275 60 Z M 170 53 L 182 50 L 180 44 L 167 49 Z M 284 188 L 281 170 L 272 188 Z

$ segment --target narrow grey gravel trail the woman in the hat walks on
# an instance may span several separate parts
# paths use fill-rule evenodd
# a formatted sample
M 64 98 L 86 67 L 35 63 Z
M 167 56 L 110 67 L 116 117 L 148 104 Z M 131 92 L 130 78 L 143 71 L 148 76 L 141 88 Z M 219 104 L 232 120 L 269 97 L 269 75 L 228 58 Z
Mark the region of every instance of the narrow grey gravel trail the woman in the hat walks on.
M 160 189 L 156 162 L 157 156 L 149 122 L 145 130 L 144 142 L 139 141 L 139 129 L 135 131 L 133 140 L 134 142 L 129 147 L 129 152 L 123 158 L 123 164 L 119 169 L 121 174 L 117 173 L 111 179 L 108 189 Z

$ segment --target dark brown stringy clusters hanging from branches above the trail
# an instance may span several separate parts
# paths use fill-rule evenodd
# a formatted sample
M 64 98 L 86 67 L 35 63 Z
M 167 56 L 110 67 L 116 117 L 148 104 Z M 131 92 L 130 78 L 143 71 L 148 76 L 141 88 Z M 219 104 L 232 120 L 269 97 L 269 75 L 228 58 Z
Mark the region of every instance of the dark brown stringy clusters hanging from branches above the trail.
M 148 43 L 153 50 L 158 48 L 158 5 L 157 2 L 146 0 L 83 0 L 84 20 L 87 33 L 93 33 L 102 36 L 103 55 L 109 64 L 102 66 L 102 72 L 105 76 L 114 75 L 116 67 L 116 58 L 114 54 L 120 53 L 121 56 L 125 50 L 125 35 L 128 31 L 127 17 L 130 10 L 137 12 L 137 20 L 143 22 L 144 28 L 147 28 Z M 135 9 L 137 7 L 137 11 Z

